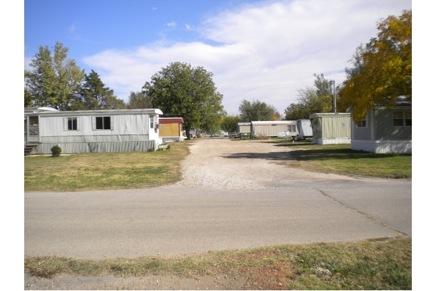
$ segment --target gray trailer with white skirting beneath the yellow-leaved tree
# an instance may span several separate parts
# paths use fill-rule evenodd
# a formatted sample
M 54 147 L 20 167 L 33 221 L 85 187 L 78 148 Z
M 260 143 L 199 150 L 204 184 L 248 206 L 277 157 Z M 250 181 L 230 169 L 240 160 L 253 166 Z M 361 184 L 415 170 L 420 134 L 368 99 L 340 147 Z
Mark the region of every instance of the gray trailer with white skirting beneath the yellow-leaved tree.
M 373 153 L 412 153 L 412 105 L 375 106 L 366 118 L 352 122 L 351 149 Z

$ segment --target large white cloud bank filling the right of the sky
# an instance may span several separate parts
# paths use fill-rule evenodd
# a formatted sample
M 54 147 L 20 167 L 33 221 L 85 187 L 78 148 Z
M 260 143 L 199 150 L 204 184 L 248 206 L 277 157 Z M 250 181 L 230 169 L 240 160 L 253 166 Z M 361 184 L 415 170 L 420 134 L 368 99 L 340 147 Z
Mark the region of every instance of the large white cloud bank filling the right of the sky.
M 260 2 L 209 17 L 196 28 L 205 42 L 106 50 L 84 61 L 102 71 L 107 86 L 126 93 L 140 90 L 170 62 L 205 67 L 214 73 L 218 88 L 312 84 L 314 73 L 324 73 L 339 83 L 355 48 L 377 35 L 376 22 L 411 6 L 410 0 Z M 175 28 L 176 23 L 167 26 Z M 222 91 L 223 104 L 228 113 L 236 114 L 244 98 L 261 100 L 283 113 L 296 101 L 298 88 Z

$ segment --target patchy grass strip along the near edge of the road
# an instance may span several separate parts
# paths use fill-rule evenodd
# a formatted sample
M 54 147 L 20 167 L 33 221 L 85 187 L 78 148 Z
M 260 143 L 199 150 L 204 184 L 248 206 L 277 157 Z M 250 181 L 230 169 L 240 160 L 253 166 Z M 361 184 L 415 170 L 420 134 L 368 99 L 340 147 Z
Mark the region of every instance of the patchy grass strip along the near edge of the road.
M 33 276 L 47 278 L 60 274 L 178 277 L 219 274 L 247 277 L 244 289 L 249 290 L 411 290 L 412 239 L 277 245 L 169 259 L 35 256 L 25 257 L 24 265 L 25 271 Z

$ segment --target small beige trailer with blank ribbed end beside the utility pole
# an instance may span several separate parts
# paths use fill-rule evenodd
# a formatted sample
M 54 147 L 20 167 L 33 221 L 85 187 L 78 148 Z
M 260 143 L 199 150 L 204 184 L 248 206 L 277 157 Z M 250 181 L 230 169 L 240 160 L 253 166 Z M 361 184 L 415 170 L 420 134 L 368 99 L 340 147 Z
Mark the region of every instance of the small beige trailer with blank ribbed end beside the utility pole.
M 310 115 L 314 144 L 349 144 L 350 113 L 313 113 Z

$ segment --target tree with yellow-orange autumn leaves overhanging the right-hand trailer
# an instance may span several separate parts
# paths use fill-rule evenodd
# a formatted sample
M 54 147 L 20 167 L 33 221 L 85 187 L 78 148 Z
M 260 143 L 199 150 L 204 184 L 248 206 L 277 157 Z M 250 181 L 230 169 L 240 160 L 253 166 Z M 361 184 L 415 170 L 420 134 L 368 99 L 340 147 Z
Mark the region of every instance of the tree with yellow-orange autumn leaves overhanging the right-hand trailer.
M 359 46 L 345 68 L 339 110 L 350 109 L 354 121 L 377 104 L 395 106 L 398 96 L 412 101 L 412 10 L 377 23 L 379 33 Z

